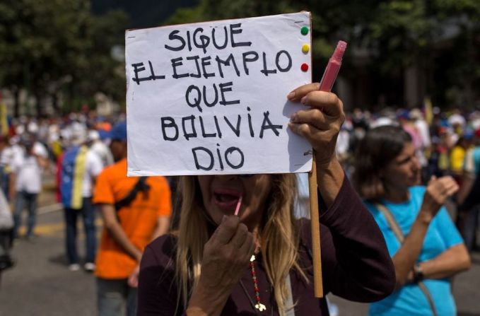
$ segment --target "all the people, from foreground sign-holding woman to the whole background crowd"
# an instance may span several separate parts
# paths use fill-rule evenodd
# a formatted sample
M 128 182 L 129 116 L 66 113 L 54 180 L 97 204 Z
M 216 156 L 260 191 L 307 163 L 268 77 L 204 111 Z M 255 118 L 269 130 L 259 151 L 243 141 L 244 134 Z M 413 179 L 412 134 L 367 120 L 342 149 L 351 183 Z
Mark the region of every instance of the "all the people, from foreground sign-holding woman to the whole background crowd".
M 312 108 L 332 109 L 329 124 L 339 127 L 336 136 L 318 139 L 302 126 L 323 122 L 311 122 L 300 111 L 291 123 L 293 132 L 324 153 L 317 157 L 324 158 L 317 174 L 320 204 L 328 209 L 321 216 L 326 293 L 380 300 L 371 305 L 371 315 L 414 315 L 432 304 L 434 315 L 454 315 L 445 280 L 468 269 L 468 252 L 478 249 L 480 112 L 385 109 L 344 115 L 341 101 L 328 103 L 308 87 L 290 98 L 303 95 L 310 95 Z M 336 155 L 327 157 L 329 152 Z M 267 315 L 263 308 L 268 315 L 270 310 L 327 315 L 327 301 L 313 300 L 310 224 L 299 219 L 308 217 L 305 177 L 127 177 L 122 115 L 14 119 L 0 136 L 0 209 L 11 207 L 13 214 L 8 220 L 8 212 L 0 211 L 0 273 L 13 265 L 11 240 L 36 238 L 37 199 L 47 173 L 56 176 L 57 199 L 64 206 L 68 269 L 78 271 L 83 263 L 95 273 L 99 315 L 120 315 L 123 309 L 136 315 L 137 305 L 138 315 L 199 310 Z M 182 189 L 175 196 L 177 182 Z M 245 197 L 240 218 L 224 216 L 231 194 L 219 197 L 225 194 L 215 191 L 219 187 Z M 83 259 L 76 250 L 79 217 L 86 236 Z M 365 257 L 370 252 L 374 261 Z M 352 281 L 358 267 L 364 274 Z M 245 286 L 253 275 L 255 286 Z M 426 295 L 421 307 L 411 305 L 423 287 L 431 298 Z

